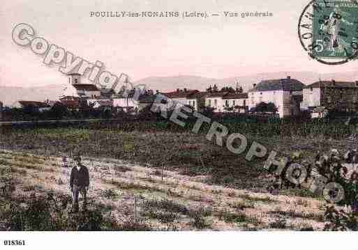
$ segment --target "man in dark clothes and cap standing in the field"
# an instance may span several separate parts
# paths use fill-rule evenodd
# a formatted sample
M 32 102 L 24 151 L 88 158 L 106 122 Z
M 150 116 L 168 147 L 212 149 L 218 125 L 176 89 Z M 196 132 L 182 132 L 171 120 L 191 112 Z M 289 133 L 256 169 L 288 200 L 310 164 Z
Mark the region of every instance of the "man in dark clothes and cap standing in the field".
M 89 188 L 89 172 L 86 166 L 81 164 L 80 155 L 75 156 L 77 166 L 74 166 L 70 175 L 70 189 L 73 194 L 73 212 L 78 212 L 78 194 L 83 197 L 83 209 L 87 205 L 87 191 Z

